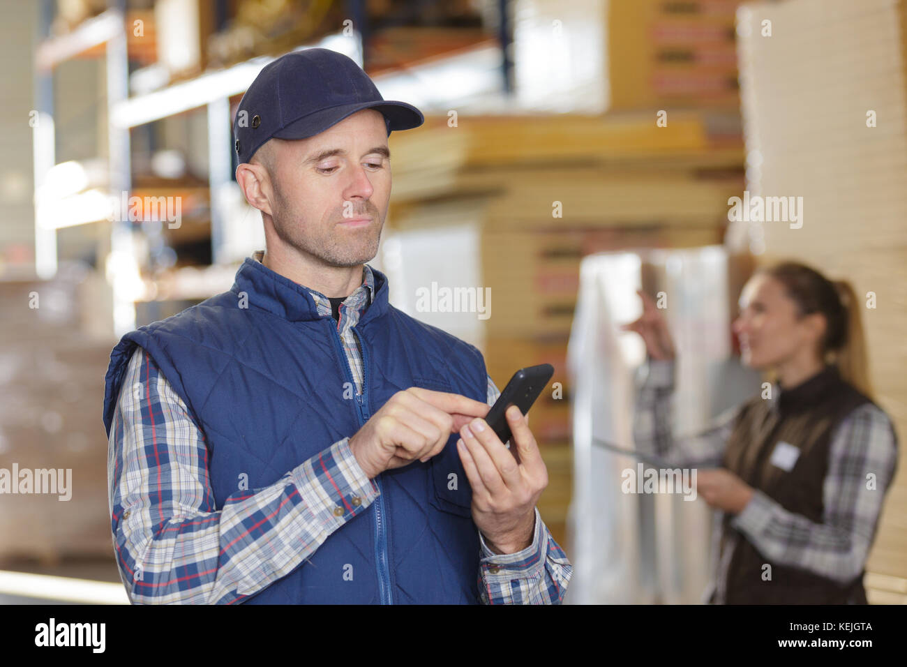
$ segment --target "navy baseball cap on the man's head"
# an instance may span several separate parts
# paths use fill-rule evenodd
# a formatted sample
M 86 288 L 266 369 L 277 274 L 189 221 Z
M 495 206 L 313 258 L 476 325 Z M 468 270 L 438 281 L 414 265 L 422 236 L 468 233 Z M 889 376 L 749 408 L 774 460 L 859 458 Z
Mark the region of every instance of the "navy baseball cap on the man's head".
M 305 139 L 363 109 L 384 114 L 387 134 L 424 123 L 412 104 L 385 100 L 352 58 L 330 49 L 305 49 L 268 63 L 242 96 L 233 119 L 239 163 L 271 137 Z

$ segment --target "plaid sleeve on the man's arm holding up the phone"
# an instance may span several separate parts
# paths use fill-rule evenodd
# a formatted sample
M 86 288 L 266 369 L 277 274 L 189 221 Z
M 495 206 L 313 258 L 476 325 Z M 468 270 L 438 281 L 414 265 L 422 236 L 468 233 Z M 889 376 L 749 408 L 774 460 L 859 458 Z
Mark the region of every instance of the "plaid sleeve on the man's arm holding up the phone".
M 488 377 L 488 405 L 501 395 Z M 532 544 L 515 554 L 495 554 L 481 544 L 479 599 L 483 604 L 560 604 L 573 574 L 573 565 L 535 508 Z

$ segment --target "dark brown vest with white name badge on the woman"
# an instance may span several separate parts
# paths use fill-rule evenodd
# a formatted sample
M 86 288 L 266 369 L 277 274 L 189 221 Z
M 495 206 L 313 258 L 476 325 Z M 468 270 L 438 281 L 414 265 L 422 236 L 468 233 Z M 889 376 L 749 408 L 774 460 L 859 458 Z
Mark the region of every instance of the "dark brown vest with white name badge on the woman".
M 823 484 L 834 430 L 854 408 L 871 401 L 845 382 L 834 365 L 797 387 L 772 388 L 779 393 L 774 401 L 756 397 L 743 407 L 723 465 L 786 510 L 822 523 Z M 771 462 L 778 443 L 799 450 L 790 470 Z M 723 517 L 721 537 L 721 554 L 734 548 L 727 568 L 725 603 L 866 603 L 862 572 L 841 585 L 803 569 L 772 563 L 730 524 L 732 518 Z M 764 578 L 766 564 L 771 565 L 771 579 Z

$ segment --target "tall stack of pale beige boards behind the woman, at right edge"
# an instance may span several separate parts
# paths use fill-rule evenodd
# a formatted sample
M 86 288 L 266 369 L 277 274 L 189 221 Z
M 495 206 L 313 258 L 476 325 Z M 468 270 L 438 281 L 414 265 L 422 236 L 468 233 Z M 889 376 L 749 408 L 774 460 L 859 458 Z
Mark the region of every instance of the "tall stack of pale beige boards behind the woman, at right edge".
M 771 37 L 761 31 L 766 21 L 774 27 Z M 803 198 L 793 227 L 750 221 L 742 223 L 748 228 L 742 236 L 766 251 L 766 261 L 793 257 L 853 282 L 866 299 L 860 309 L 877 400 L 901 436 L 907 433 L 905 27 L 907 5 L 895 0 L 792 0 L 744 5 L 739 29 L 747 190 Z M 901 468 L 867 566 L 871 602 L 907 602 Z

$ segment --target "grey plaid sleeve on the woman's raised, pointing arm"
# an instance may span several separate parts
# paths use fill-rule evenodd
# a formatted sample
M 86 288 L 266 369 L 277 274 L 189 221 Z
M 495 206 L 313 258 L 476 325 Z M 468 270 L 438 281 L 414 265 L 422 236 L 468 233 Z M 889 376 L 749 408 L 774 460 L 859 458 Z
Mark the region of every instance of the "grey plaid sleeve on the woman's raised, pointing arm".
M 720 466 L 740 408 L 727 409 L 700 433 L 673 436 L 674 372 L 674 362 L 662 359 L 649 359 L 639 368 L 633 442 L 640 452 L 658 455 L 677 466 Z

